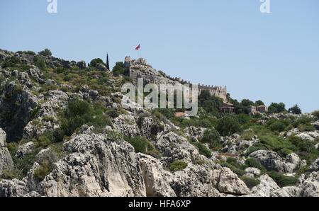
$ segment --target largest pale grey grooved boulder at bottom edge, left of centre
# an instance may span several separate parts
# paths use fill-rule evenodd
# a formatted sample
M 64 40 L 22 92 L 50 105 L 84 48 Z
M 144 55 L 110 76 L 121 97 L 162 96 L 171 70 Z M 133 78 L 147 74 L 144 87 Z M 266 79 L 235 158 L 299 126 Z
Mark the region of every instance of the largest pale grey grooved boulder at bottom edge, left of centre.
M 134 148 L 106 135 L 75 135 L 65 143 L 69 156 L 41 183 L 47 196 L 145 196 Z

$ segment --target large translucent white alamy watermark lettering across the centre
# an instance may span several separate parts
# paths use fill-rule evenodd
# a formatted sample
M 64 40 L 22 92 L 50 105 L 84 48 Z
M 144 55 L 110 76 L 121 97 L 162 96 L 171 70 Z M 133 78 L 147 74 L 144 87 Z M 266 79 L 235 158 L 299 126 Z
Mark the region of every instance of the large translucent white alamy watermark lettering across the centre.
M 196 116 L 198 113 L 198 85 L 192 84 L 146 84 L 138 79 L 137 89 L 133 84 L 122 86 L 122 93 L 126 98 L 122 100 L 123 108 L 184 108 L 186 115 Z M 145 94 L 146 93 L 146 94 Z M 133 102 L 128 105 L 128 101 Z M 134 104 L 136 103 L 136 104 Z

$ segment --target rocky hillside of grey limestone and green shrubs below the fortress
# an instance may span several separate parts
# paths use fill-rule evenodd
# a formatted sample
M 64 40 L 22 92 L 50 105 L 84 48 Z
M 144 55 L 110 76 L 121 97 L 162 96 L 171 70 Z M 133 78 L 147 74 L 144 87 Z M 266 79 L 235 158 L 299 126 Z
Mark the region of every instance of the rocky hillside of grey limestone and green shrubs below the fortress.
M 0 196 L 319 196 L 319 112 L 124 109 L 94 61 L 0 50 Z

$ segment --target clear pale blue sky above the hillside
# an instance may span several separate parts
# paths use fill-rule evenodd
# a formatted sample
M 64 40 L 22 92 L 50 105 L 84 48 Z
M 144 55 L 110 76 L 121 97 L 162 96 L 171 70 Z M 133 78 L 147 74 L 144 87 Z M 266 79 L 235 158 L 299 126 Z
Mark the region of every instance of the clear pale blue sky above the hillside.
M 111 64 L 139 57 L 232 98 L 319 109 L 319 1 L 0 0 L 0 49 Z

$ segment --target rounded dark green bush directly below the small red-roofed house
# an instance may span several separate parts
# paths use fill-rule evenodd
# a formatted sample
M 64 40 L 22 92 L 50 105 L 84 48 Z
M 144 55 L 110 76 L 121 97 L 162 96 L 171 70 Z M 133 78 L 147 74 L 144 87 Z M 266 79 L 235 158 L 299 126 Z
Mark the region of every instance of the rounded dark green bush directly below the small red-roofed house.
M 240 132 L 240 124 L 236 118 L 227 115 L 218 120 L 216 130 L 222 136 L 233 135 L 235 132 Z

